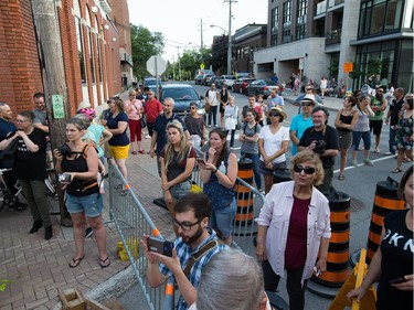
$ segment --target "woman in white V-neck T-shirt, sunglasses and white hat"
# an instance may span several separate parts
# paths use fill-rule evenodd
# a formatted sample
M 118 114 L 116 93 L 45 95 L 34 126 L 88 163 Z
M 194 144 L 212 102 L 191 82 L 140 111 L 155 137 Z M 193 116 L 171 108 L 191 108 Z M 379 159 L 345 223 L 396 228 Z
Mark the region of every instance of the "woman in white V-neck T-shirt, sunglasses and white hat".
M 266 111 L 266 116 L 270 125 L 264 126 L 258 135 L 258 170 L 264 175 L 267 194 L 273 185 L 273 172 L 286 167 L 285 153 L 289 145 L 289 130 L 282 126 L 282 121 L 287 118 L 283 109 L 273 107 Z

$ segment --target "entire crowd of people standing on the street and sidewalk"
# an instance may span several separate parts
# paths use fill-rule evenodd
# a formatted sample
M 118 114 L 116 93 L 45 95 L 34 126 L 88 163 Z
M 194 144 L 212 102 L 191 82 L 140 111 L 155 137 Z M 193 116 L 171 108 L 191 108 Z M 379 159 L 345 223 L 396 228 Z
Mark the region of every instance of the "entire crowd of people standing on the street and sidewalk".
M 326 90 L 325 81 L 321 81 L 321 86 Z M 158 287 L 168 276 L 173 276 L 181 292 L 177 309 L 226 309 L 224 304 L 235 304 L 232 302 L 240 302 L 237 309 L 269 309 L 265 291 L 276 291 L 280 277 L 286 275 L 290 309 L 305 309 L 308 279 L 327 270 L 331 227 L 325 194 L 332 188 L 336 157 L 340 154 L 338 179 L 344 180 L 350 147 L 352 164 L 359 165 L 357 153 L 363 149 L 363 163 L 373 165 L 370 160 L 371 131 L 375 136 L 374 151 L 380 152 L 382 120 L 388 106 L 380 88 L 375 96 L 357 90 L 344 97 L 343 107 L 330 126 L 328 109 L 320 104 L 315 87 L 308 84 L 297 99 L 299 113 L 293 117 L 289 129 L 283 126 L 288 115 L 278 89 L 273 90 L 268 98 L 250 96 L 238 113 L 235 97 L 227 93 L 226 86 L 217 92 L 213 84 L 205 96 L 211 106 L 208 118 L 198 115 L 195 104 L 191 104 L 190 113 L 181 118 L 173 111 L 172 98 L 160 103 L 152 90 L 145 89 L 142 94 L 138 88 L 129 92 L 126 101 L 120 97 L 110 98 L 108 109 L 99 117 L 91 105 L 81 104 L 76 116 L 66 122 L 66 143 L 53 151 L 47 138 L 44 95 L 39 93 L 33 97 L 35 113 L 19 113 L 15 126 L 11 121 L 10 107 L 0 104 L 0 150 L 15 141 L 12 177 L 19 180 L 32 214 L 33 225 L 29 233 L 34 234 L 44 227 L 45 239 L 52 238 L 53 229 L 43 181 L 53 159 L 73 220 L 75 254 L 68 263 L 71 268 L 79 266 L 85 257 L 88 226 L 98 247 L 98 265 L 102 268 L 110 265 L 102 217 L 105 158 L 115 160 L 127 181 L 128 157 L 148 153 L 157 158 L 160 190 L 177 235 L 171 257 L 149 250 L 149 236 L 142 237 L 150 286 Z M 390 131 L 388 154 L 397 156 L 397 167 L 392 171 L 397 173 L 402 171 L 404 160 L 413 160 L 413 95 L 404 96 L 402 88 L 396 88 L 393 95 L 395 99 L 391 100 L 385 124 L 393 130 Z M 38 108 L 42 105 L 43 110 Z M 221 127 L 216 126 L 217 113 Z M 148 152 L 141 142 L 142 137 L 147 137 L 146 130 L 150 137 Z M 238 171 L 233 151 L 237 130 L 241 156 L 252 160 L 255 186 L 266 194 L 256 218 L 257 261 L 230 249 L 237 209 L 234 189 Z M 287 161 L 290 141 L 293 159 Z M 200 169 L 203 193 L 191 192 L 191 175 L 195 167 Z M 291 181 L 274 184 L 273 174 L 277 170 L 288 171 Z M 400 299 L 401 304 L 410 302 L 406 292 L 412 296 L 413 275 L 405 268 L 405 263 L 412 266 L 413 250 L 403 246 L 391 248 L 388 239 L 394 229 L 395 234 L 406 238 L 412 236 L 412 172 L 411 167 L 400 188 L 407 210 L 385 218 L 381 247 L 361 288 L 349 292 L 349 299 L 357 297 L 360 300 L 372 282 L 380 280 L 379 302 L 390 302 L 389 291 L 393 298 Z M 401 225 L 404 221 L 405 226 Z M 402 267 L 384 271 L 384 264 L 391 264 L 395 255 L 406 256 L 406 261 Z M 224 267 L 226 259 L 242 261 L 250 268 L 232 270 L 230 266 Z M 214 277 L 220 275 L 222 278 L 217 284 Z M 403 277 L 402 282 L 390 285 L 390 279 L 396 277 Z M 212 287 L 237 279 L 252 284 L 252 290 L 245 292 L 252 295 L 248 302 L 232 301 L 231 293 L 225 300 L 222 291 L 216 290 L 217 300 L 222 300 L 220 304 L 215 308 L 205 304 L 203 300 Z

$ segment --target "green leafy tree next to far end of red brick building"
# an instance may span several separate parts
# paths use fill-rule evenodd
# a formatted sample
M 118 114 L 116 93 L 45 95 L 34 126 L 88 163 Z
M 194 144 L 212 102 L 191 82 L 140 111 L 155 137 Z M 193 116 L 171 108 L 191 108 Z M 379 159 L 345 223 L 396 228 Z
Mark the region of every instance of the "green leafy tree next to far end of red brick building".
M 130 41 L 134 61 L 134 74 L 138 79 L 149 75 L 147 61 L 163 51 L 163 35 L 160 32 L 150 32 L 142 25 L 130 24 Z

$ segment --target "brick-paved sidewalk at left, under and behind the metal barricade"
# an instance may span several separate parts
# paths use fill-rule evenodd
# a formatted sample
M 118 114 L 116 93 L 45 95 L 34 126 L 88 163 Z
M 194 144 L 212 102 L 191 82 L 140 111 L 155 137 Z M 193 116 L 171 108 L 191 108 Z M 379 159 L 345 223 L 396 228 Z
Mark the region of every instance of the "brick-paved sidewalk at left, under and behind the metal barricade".
M 144 139 L 142 142 L 148 151 L 150 140 Z M 155 159 L 149 154 L 130 154 L 127 168 L 129 184 L 139 201 L 161 234 L 166 237 L 171 235 L 168 211 L 152 203 L 153 199 L 161 196 Z M 56 205 L 52 209 L 59 210 Z M 91 237 L 85 240 L 85 258 L 77 268 L 68 268 L 75 252 L 72 228 L 60 226 L 60 217 L 52 215 L 54 236 L 47 242 L 43 228 L 36 234 L 29 234 L 33 224 L 29 209 L 12 212 L 4 207 L 0 213 L 0 280 L 8 279 L 11 284 L 0 291 L 0 309 L 53 309 L 59 302 L 57 288 L 77 288 L 86 293 L 125 270 L 129 263 L 116 257 L 116 243 L 119 240 L 116 227 L 107 212 L 104 218 L 110 266 L 105 269 L 99 267 L 97 246 Z

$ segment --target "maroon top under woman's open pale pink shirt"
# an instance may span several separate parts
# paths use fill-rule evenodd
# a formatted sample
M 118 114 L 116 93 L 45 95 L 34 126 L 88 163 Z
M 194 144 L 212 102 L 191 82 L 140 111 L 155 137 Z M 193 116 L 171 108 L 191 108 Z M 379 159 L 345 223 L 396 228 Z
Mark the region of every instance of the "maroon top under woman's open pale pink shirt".
M 310 197 L 300 200 L 294 196 L 285 249 L 285 268 L 298 269 L 305 266 Z

